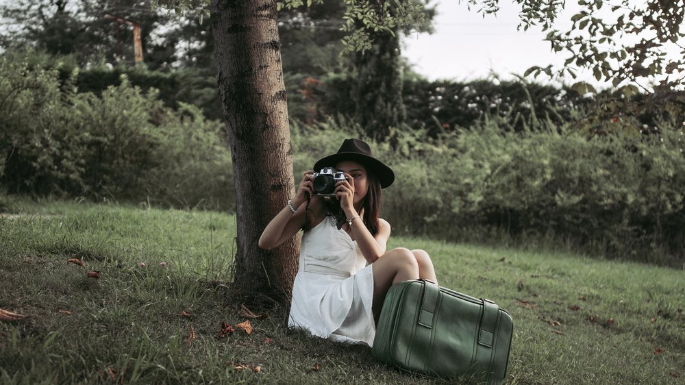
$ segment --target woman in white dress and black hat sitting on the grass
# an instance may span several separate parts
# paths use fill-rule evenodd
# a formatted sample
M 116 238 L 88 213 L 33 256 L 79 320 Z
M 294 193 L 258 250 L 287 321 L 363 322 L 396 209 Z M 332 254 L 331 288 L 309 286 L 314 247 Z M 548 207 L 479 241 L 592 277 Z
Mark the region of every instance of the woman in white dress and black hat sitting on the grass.
M 337 153 L 314 164 L 316 171 L 324 167 L 345 174 L 334 197 L 315 195 L 314 171 L 306 171 L 259 245 L 272 249 L 303 229 L 288 326 L 371 346 L 388 288 L 419 278 L 436 281 L 433 263 L 423 250 L 386 252 L 390 224 L 379 218 L 381 189 L 393 184 L 395 173 L 366 142 L 346 139 Z

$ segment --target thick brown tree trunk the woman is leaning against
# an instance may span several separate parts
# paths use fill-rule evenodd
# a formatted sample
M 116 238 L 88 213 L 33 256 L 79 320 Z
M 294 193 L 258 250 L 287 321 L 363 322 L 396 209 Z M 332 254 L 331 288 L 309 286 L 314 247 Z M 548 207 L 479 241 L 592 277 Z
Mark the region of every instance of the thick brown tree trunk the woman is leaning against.
M 266 224 L 295 194 L 275 0 L 212 0 L 219 95 L 236 190 L 234 285 L 280 302 L 290 297 L 299 238 L 258 247 Z

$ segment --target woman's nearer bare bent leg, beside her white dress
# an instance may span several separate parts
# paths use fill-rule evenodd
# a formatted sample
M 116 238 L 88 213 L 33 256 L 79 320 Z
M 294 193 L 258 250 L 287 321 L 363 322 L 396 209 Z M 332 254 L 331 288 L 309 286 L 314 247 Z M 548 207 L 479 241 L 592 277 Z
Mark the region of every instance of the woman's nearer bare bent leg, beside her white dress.
M 383 308 L 388 289 L 397 282 L 418 280 L 419 264 L 409 249 L 392 249 L 373 262 L 373 316 L 378 317 Z

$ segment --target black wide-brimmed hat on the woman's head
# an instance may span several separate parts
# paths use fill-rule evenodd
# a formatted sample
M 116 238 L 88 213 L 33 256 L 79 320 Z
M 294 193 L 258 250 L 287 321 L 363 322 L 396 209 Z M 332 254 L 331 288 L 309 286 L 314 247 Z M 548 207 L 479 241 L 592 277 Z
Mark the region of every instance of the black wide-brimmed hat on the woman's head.
M 343 160 L 352 160 L 362 164 L 366 171 L 373 173 L 379 179 L 381 188 L 386 188 L 395 182 L 393 170 L 380 160 L 374 158 L 371 147 L 359 139 L 345 139 L 338 152 L 321 158 L 314 164 L 314 171 L 321 171 L 324 167 L 335 167 L 336 164 Z

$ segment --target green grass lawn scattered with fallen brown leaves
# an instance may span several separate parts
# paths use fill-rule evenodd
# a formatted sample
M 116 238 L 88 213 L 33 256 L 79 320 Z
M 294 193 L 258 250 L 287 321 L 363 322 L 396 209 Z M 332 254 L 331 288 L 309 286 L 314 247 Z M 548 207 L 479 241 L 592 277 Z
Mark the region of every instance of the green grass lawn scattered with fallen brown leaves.
M 227 286 L 233 216 L 5 205 L 0 308 L 27 317 L 0 321 L 0 384 L 447 383 L 377 364 L 368 347 L 286 330 L 286 308 L 251 318 Z M 510 384 L 685 379 L 683 270 L 390 239 L 400 246 L 429 251 L 441 285 L 512 314 Z M 244 321 L 251 334 L 236 327 Z M 234 332 L 221 336 L 222 323 Z

